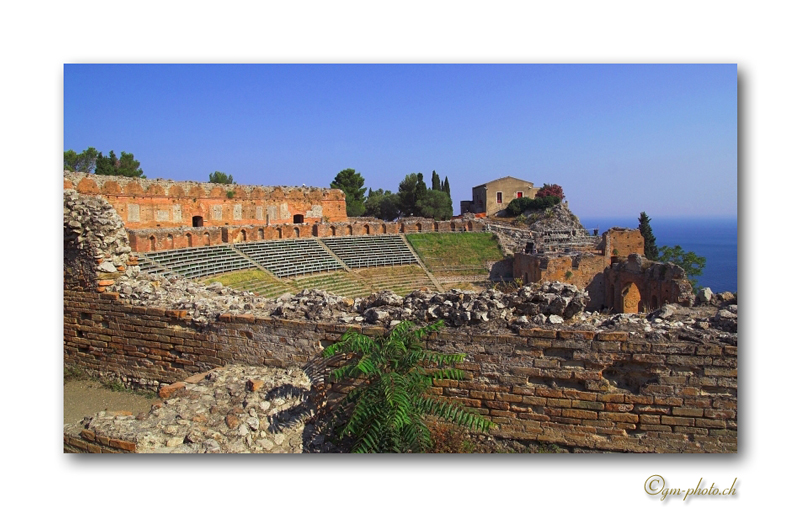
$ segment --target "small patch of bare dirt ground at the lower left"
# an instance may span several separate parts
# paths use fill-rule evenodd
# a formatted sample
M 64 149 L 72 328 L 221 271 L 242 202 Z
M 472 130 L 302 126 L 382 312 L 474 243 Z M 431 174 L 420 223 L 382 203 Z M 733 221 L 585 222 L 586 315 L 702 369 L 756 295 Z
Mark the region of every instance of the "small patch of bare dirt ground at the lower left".
M 148 412 L 158 398 L 116 392 L 95 380 L 69 380 L 64 383 L 64 424 L 76 423 L 101 410 Z

